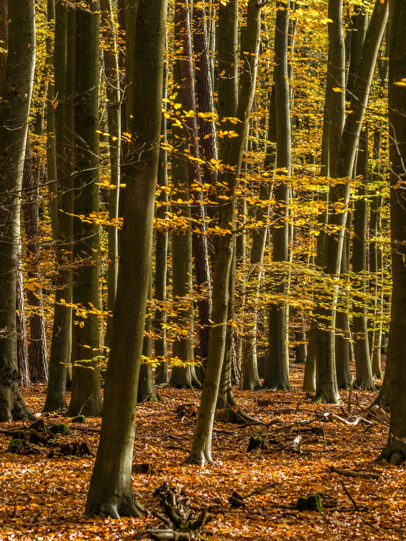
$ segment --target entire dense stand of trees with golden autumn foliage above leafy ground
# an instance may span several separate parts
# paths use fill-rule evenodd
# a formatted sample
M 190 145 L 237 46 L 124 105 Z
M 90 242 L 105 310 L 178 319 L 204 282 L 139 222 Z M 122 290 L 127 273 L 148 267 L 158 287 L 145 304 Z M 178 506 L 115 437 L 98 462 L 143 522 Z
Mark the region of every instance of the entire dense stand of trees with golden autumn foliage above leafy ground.
M 30 382 L 103 410 L 88 514 L 143 511 L 154 370 L 202 389 L 204 464 L 216 417 L 252 421 L 232 384 L 289 391 L 294 356 L 315 401 L 376 392 L 389 337 L 406 458 L 406 7 L 314 4 L 0 0 L 0 421 Z

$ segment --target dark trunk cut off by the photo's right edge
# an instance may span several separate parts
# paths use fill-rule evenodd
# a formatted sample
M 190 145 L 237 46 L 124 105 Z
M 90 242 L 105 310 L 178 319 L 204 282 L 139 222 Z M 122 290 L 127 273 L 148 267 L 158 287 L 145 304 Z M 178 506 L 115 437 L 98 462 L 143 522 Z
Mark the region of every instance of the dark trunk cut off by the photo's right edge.
M 385 2 L 388 3 L 388 2 Z M 385 380 L 390 389 L 390 427 L 388 443 L 379 459 L 400 464 L 406 459 L 406 212 L 404 209 L 404 156 L 406 156 L 406 107 L 404 100 L 404 65 L 406 63 L 406 4 L 389 2 L 389 145 L 390 230 L 392 246 L 392 303 L 389 348 Z

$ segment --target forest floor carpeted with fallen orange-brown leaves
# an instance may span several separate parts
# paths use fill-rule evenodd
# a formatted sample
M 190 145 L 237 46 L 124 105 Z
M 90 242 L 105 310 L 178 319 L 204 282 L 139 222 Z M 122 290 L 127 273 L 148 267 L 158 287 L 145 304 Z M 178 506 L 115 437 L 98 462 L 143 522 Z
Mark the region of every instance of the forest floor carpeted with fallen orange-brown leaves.
M 354 367 L 352 367 L 354 368 Z M 184 466 L 191 447 L 194 418 L 176 417 L 176 407 L 197 400 L 189 390 L 161 391 L 159 403 L 140 404 L 136 414 L 134 463 L 153 463 L 153 474 L 133 474 L 133 488 L 140 502 L 158 510 L 159 499 L 153 492 L 164 481 L 178 486 L 190 498 L 194 509 L 202 507 L 213 514 L 207 526 L 208 539 L 310 539 L 312 541 L 348 539 L 406 539 L 406 475 L 402 467 L 374 460 L 384 447 L 388 426 L 384 421 L 373 426 L 342 424 L 337 420 L 313 421 L 315 410 L 333 412 L 345 418 L 340 405 L 312 404 L 301 388 L 302 366 L 291 365 L 292 391 L 234 390 L 239 405 L 257 419 L 282 424 L 244 426 L 215 423 L 213 434 L 214 463 Z M 31 411 L 40 417 L 45 401 L 45 385 L 23 390 Z M 199 392 L 197 392 L 199 394 Z M 342 407 L 347 408 L 348 392 L 341 392 Z M 354 391 L 361 407 L 368 406 L 376 395 Z M 119 397 L 117 397 L 119 400 Z M 257 400 L 272 400 L 259 407 Z M 193 408 L 192 408 L 193 409 Z M 359 410 L 358 410 L 359 411 Z M 193 412 L 192 412 L 193 414 Z M 45 417 L 47 425 L 63 422 Z M 68 436 L 58 434 L 59 443 L 86 441 L 96 453 L 101 419 L 88 419 L 86 425 L 71 426 Z M 292 425 L 292 426 L 289 426 Z M 2 430 L 22 423 L 2 424 Z M 82 430 L 74 430 L 74 427 Z M 86 427 L 88 432 L 83 431 Z M 313 430 L 309 430 L 313 429 Z M 316 429 L 316 430 L 315 430 Z M 254 431 L 269 444 L 266 450 L 247 454 Z M 303 454 L 293 454 L 294 437 L 303 436 Z M 149 539 L 147 527 L 160 525 L 148 518 L 89 518 L 83 515 L 94 458 L 54 456 L 41 447 L 36 454 L 6 452 L 10 436 L 0 434 L 0 536 L 2 539 L 43 541 L 58 539 Z M 331 466 L 356 472 L 369 472 L 373 479 L 346 477 Z M 343 485 L 358 506 L 346 495 Z M 230 507 L 233 491 L 242 496 L 274 484 L 245 499 L 245 507 Z M 300 496 L 320 493 L 327 506 L 323 512 L 297 511 Z

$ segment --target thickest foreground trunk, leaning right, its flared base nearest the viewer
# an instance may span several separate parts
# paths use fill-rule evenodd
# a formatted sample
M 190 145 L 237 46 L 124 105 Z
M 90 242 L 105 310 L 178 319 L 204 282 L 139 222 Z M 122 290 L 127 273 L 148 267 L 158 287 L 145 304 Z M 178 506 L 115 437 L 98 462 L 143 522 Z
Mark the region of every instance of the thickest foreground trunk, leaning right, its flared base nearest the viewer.
M 134 4 L 137 4 L 136 14 L 130 10 Z M 120 514 L 138 516 L 137 507 L 140 507 L 131 487 L 131 470 L 137 382 L 152 265 L 167 3 L 132 0 L 127 9 L 128 34 L 134 32 L 134 41 L 129 40 L 133 49 L 127 49 L 127 70 L 134 77 L 128 111 L 132 138 L 113 337 L 104 385 L 106 407 L 85 510 L 90 516 L 109 514 L 113 518 L 119 518 Z M 138 74 L 143 76 L 135 77 Z

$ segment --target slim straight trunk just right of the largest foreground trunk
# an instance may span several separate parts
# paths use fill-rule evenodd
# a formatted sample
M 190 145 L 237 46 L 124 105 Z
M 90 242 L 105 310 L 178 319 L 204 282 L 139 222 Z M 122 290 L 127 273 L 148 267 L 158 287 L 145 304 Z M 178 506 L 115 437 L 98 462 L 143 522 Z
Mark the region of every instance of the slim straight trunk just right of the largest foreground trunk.
M 165 42 L 167 48 L 167 42 Z M 168 96 L 168 66 L 163 64 L 163 99 Z M 162 108 L 166 111 L 166 103 L 162 102 Z M 168 151 L 166 150 L 167 132 L 166 132 L 166 117 L 162 114 L 161 120 L 161 148 L 159 151 L 159 166 L 158 166 L 158 195 L 156 199 L 156 217 L 158 220 L 164 221 L 168 210 Z M 166 229 L 156 230 L 155 240 L 155 292 L 154 298 L 158 303 L 154 315 L 154 330 L 155 330 L 155 359 L 160 361 L 160 364 L 155 368 L 155 385 L 168 382 L 168 362 L 166 349 L 166 274 L 168 268 L 168 232 Z

